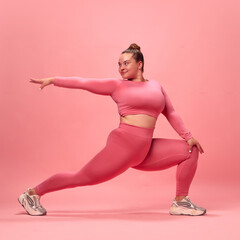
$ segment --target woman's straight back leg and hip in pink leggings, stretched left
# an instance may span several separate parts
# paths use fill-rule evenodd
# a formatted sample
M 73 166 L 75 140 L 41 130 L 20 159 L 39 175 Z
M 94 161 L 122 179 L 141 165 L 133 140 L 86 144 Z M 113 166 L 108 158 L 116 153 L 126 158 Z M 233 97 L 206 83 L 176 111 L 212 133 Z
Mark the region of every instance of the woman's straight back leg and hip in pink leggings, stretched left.
M 54 174 L 34 187 L 36 193 L 42 196 L 61 189 L 102 183 L 140 163 L 151 146 L 153 131 L 126 124 L 120 126 L 112 130 L 106 146 L 83 168 L 77 172 Z M 129 134 L 126 130 L 143 137 Z

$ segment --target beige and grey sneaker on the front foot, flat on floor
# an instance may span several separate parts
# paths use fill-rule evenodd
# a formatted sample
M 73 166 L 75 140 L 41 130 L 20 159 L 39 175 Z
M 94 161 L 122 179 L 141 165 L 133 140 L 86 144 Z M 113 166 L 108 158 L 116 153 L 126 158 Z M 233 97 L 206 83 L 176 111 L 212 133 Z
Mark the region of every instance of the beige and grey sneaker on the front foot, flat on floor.
M 205 208 L 198 207 L 191 202 L 188 196 L 183 198 L 180 202 L 173 200 L 169 213 L 171 215 L 189 215 L 200 216 L 207 212 Z

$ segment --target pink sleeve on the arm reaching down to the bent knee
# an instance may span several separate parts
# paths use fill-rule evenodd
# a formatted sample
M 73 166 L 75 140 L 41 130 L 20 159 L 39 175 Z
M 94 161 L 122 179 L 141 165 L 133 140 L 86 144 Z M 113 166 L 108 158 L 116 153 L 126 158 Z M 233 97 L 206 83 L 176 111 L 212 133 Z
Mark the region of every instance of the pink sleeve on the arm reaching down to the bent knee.
M 166 91 L 161 86 L 162 93 L 165 97 L 165 108 L 162 111 L 162 114 L 167 118 L 171 126 L 175 131 L 186 141 L 191 139 L 193 136 L 191 132 L 185 127 L 183 120 L 179 114 L 175 111 L 170 98 L 168 97 Z

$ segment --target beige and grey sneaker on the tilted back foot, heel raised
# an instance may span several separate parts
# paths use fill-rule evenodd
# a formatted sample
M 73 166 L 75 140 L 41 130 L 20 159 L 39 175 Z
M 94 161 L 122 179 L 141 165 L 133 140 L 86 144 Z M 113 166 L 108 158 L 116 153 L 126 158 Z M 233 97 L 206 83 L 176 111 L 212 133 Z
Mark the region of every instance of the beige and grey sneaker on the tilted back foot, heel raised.
M 19 203 L 23 206 L 26 212 L 32 216 L 40 216 L 46 215 L 47 211 L 40 204 L 40 196 L 39 195 L 29 195 L 28 188 L 23 194 L 18 197 Z

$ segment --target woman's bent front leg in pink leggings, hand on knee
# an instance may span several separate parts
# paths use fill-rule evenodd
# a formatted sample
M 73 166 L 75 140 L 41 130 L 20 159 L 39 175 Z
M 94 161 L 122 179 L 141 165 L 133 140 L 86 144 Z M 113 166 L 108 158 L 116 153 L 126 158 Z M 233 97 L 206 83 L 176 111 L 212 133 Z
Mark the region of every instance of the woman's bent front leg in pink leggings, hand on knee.
M 197 169 L 199 151 L 184 140 L 153 138 L 145 159 L 132 168 L 143 171 L 158 171 L 177 166 L 176 196 L 187 196 Z

